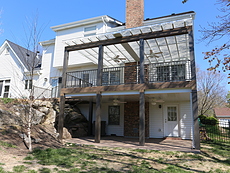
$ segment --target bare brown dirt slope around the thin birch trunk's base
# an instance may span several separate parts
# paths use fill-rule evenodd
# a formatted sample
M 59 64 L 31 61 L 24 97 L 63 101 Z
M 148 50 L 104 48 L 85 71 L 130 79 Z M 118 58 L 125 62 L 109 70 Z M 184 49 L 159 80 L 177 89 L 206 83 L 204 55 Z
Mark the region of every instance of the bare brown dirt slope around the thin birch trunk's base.
M 12 146 L 0 145 L 0 167 L 5 171 L 12 171 L 14 166 L 25 165 L 29 169 L 38 170 L 44 166 L 33 162 L 31 165 L 25 164 L 24 158 L 29 154 L 27 146 L 20 137 L 21 131 L 15 129 L 16 127 L 2 128 L 0 130 L 0 141 L 11 144 Z M 63 145 L 58 142 L 50 133 L 52 131 L 50 126 L 37 125 L 32 129 L 32 136 L 41 139 L 37 143 L 33 143 L 33 148 L 60 148 Z M 39 132 L 39 133 L 38 133 Z M 55 166 L 46 166 L 53 168 Z

